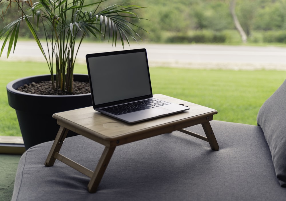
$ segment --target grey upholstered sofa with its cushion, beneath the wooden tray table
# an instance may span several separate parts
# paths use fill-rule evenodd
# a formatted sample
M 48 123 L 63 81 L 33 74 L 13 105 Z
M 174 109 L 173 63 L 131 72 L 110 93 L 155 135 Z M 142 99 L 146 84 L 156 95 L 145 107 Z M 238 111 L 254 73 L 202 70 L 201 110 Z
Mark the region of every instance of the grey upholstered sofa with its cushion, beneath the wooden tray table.
M 257 126 L 210 121 L 219 151 L 179 131 L 118 146 L 96 193 L 64 163 L 45 167 L 52 141 L 35 145 L 19 161 L 12 201 L 286 200 L 285 95 L 286 81 L 261 106 Z M 73 136 L 61 153 L 94 170 L 103 149 Z

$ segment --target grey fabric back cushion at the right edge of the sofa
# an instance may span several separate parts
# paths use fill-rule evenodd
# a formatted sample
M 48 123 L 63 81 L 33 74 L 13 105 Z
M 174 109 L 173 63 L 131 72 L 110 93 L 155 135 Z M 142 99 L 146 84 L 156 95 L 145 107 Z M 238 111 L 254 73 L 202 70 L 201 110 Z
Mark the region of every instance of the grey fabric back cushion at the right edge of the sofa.
M 270 148 L 277 179 L 286 187 L 286 80 L 261 106 L 257 124 Z

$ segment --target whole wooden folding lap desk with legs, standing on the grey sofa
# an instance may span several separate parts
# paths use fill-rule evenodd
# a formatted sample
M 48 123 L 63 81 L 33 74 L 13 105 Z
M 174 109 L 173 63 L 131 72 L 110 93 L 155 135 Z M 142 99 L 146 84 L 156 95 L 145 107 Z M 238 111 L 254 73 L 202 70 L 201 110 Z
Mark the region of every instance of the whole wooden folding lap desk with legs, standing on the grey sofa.
M 210 126 L 212 116 L 217 114 L 216 110 L 160 94 L 154 95 L 154 98 L 184 104 L 190 110 L 136 124 L 128 124 L 108 117 L 96 112 L 93 107 L 54 114 L 53 118 L 57 119 L 60 128 L 45 161 L 45 166 L 53 166 L 56 159 L 60 160 L 90 177 L 88 191 L 96 192 L 116 146 L 179 130 L 209 142 L 212 150 L 219 150 L 219 145 Z M 206 137 L 183 129 L 196 124 L 202 124 Z M 105 146 L 94 171 L 59 153 L 69 130 Z

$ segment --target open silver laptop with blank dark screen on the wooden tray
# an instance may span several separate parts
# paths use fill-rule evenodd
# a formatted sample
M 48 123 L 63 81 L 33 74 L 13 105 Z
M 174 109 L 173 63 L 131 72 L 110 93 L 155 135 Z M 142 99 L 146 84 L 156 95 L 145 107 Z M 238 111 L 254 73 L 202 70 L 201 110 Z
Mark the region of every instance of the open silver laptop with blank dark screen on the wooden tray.
M 188 110 L 154 99 L 146 49 L 86 55 L 93 108 L 128 123 Z

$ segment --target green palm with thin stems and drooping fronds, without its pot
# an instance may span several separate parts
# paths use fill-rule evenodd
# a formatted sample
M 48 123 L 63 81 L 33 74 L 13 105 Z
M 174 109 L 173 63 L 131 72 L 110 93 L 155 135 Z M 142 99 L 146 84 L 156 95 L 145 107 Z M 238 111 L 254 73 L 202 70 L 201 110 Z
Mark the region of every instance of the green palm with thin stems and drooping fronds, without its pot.
M 6 44 L 7 57 L 12 49 L 15 50 L 20 24 L 25 23 L 47 62 L 53 89 L 72 92 L 76 56 L 87 35 L 112 41 L 112 45 L 120 39 L 122 46 L 124 41 L 129 44 L 129 37 L 135 41 L 136 37 L 140 38 L 134 27 L 142 28 L 132 21 L 140 19 L 134 11 L 142 7 L 126 4 L 104 6 L 105 1 L 108 0 L 89 3 L 88 0 L 0 0 L 2 19 L 12 10 L 13 4 L 22 13 L 0 31 L 0 40 L 3 40 L 0 56 Z M 44 37 L 40 37 L 40 28 Z

